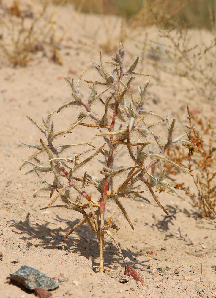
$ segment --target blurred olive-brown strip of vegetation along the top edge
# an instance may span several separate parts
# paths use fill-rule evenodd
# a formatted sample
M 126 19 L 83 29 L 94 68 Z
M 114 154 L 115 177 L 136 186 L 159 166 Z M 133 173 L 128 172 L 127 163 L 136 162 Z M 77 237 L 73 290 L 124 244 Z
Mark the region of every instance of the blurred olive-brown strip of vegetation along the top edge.
M 114 14 L 139 25 L 155 24 L 152 12 L 169 18 L 170 24 L 215 29 L 215 0 L 53 0 L 54 3 L 72 3 L 78 12 Z M 152 12 L 151 12 L 152 11 Z

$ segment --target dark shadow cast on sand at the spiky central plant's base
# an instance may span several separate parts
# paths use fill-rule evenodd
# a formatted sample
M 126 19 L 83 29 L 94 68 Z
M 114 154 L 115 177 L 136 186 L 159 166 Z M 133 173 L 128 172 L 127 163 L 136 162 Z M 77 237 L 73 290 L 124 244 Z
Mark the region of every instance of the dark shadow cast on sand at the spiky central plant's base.
M 56 215 L 56 218 L 53 221 L 57 221 L 57 224 L 64 223 L 67 224 L 66 228 L 59 226 L 58 228 L 49 228 L 48 225 L 51 224 L 49 221 L 38 224 L 33 223 L 30 220 L 30 214 L 26 214 L 25 221 L 16 221 L 10 220 L 7 223 L 10 224 L 12 229 L 11 231 L 17 235 L 21 235 L 20 239 L 26 242 L 26 248 L 30 247 L 42 247 L 43 249 L 58 249 L 64 250 L 65 252 L 73 252 L 75 254 L 86 257 L 88 260 L 92 261 L 92 266 L 98 264 L 97 259 L 99 260 L 99 251 L 97 249 L 97 237 L 94 236 L 94 233 L 89 228 L 89 226 L 84 225 L 83 229 L 77 229 L 74 234 L 72 233 L 68 238 L 64 238 L 63 235 L 68 232 L 72 226 L 75 226 L 79 219 L 74 221 L 68 221 L 64 218 Z M 74 235 L 74 237 L 73 237 Z M 96 249 L 95 249 L 96 248 Z M 113 262 L 118 262 L 118 266 L 122 268 L 125 267 L 125 264 L 119 262 L 122 260 L 117 247 L 112 241 L 105 241 L 105 260 L 104 264 L 108 268 L 113 267 Z M 136 254 L 131 252 L 129 249 L 122 250 L 124 256 L 130 258 L 130 260 L 135 259 Z M 146 261 L 148 262 L 148 260 Z

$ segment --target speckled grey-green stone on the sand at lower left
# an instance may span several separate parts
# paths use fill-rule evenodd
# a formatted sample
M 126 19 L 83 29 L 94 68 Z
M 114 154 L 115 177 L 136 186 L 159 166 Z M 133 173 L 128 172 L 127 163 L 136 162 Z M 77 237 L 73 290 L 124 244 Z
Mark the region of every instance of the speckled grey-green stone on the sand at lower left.
M 10 274 L 10 278 L 31 290 L 36 288 L 53 290 L 60 285 L 59 281 L 29 266 L 21 266 L 18 271 Z

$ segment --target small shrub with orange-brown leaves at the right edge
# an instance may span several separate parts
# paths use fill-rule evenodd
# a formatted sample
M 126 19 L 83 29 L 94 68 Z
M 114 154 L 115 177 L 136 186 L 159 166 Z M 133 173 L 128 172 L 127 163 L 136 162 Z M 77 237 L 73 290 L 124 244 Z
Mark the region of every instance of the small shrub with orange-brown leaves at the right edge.
M 202 119 L 197 121 L 199 131 L 195 128 L 195 123 L 192 123 L 192 114 L 187 106 L 189 126 L 187 126 L 188 140 L 194 144 L 194 147 L 185 144 L 188 148 L 188 154 L 181 151 L 182 160 L 187 160 L 189 170 L 197 171 L 193 176 L 194 184 L 198 190 L 197 193 L 190 190 L 190 186 L 184 184 L 176 184 L 176 188 L 184 190 L 185 194 L 192 199 L 192 204 L 198 207 L 204 218 L 209 219 L 213 216 L 216 219 L 216 132 L 208 119 L 206 125 Z M 208 140 L 206 139 L 208 136 Z M 175 149 L 170 152 L 170 157 L 176 155 Z M 183 166 L 183 165 L 182 165 Z

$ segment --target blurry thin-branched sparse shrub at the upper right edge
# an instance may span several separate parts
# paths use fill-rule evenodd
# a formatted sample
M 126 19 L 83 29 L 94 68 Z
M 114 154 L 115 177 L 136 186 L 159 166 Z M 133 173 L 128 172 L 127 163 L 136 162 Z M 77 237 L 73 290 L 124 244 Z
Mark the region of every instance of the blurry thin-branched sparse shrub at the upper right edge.
M 190 24 L 176 25 L 169 17 L 161 17 L 152 10 L 157 21 L 158 41 L 145 38 L 138 46 L 145 48 L 150 57 L 154 58 L 152 64 L 156 69 L 162 69 L 169 74 L 184 77 L 193 85 L 197 83 L 197 90 L 209 100 L 216 94 L 215 80 L 215 52 L 216 32 L 212 11 L 209 10 L 209 23 L 212 32 L 189 30 Z M 204 38 L 205 35 L 208 39 Z M 160 59 L 161 58 L 161 59 Z M 164 59 L 162 59 L 164 58 Z M 163 60 L 169 63 L 163 63 Z

